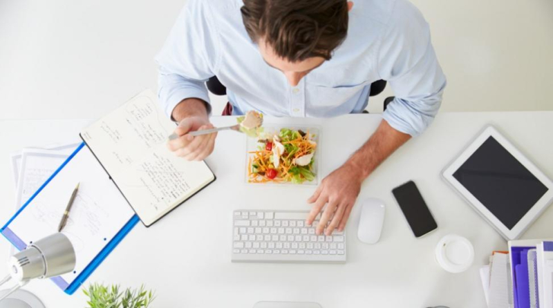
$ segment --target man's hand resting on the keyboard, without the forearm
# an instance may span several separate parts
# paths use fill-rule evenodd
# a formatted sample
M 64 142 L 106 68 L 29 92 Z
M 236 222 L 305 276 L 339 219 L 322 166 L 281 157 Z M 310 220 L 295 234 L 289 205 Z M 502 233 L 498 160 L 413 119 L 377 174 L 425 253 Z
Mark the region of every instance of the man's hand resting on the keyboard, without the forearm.
M 346 163 L 324 178 L 317 191 L 309 198 L 309 203 L 315 203 L 307 218 L 308 225 L 313 223 L 317 214 L 326 206 L 321 220 L 317 225 L 317 235 L 326 229 L 330 235 L 334 229 L 343 231 L 350 217 L 353 204 L 357 200 L 364 177 L 354 166 Z M 326 227 L 327 222 L 330 222 Z

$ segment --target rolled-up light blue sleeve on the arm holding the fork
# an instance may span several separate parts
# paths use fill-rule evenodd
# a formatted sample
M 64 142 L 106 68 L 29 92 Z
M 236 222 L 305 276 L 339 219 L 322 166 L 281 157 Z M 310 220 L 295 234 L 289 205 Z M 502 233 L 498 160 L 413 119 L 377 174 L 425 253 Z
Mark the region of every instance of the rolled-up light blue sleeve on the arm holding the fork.
M 205 81 L 218 68 L 219 38 L 206 2 L 188 1 L 156 56 L 158 98 L 168 117 L 191 97 L 203 99 L 210 109 Z

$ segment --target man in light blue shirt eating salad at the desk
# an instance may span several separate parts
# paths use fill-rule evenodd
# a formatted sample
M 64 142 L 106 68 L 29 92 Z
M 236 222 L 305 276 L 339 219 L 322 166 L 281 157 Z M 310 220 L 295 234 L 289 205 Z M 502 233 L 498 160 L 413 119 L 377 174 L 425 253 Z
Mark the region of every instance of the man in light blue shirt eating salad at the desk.
M 440 108 L 446 79 L 420 12 L 406 0 L 188 1 L 156 58 L 160 101 L 180 123 L 168 146 L 187 160 L 214 148 L 216 134 L 187 135 L 212 128 L 204 85 L 212 76 L 234 115 L 361 113 L 373 81 L 391 85 L 377 131 L 308 200 L 308 224 L 322 211 L 317 234 L 343 230 L 364 179 Z

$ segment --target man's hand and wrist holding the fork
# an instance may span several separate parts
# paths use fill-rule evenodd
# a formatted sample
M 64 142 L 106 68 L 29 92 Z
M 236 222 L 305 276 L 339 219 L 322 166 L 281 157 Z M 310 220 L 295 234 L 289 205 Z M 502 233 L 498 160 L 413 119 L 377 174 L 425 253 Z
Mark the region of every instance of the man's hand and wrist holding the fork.
M 169 141 L 167 147 L 185 160 L 203 160 L 215 147 L 217 133 L 196 137 L 188 135 L 191 131 L 213 128 L 205 104 L 200 99 L 190 98 L 180 102 L 173 110 L 174 119 L 180 121 L 175 129 L 179 137 Z

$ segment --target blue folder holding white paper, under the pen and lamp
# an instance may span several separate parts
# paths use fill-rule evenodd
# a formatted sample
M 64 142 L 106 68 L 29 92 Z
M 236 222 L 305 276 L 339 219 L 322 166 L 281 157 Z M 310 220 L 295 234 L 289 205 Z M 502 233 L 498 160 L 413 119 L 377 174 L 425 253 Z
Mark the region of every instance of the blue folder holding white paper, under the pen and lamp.
M 84 143 L 0 229 L 19 250 L 57 232 L 57 224 L 77 182 L 79 193 L 62 231 L 75 248 L 77 264 L 75 271 L 51 278 L 68 294 L 81 287 L 140 221 Z

